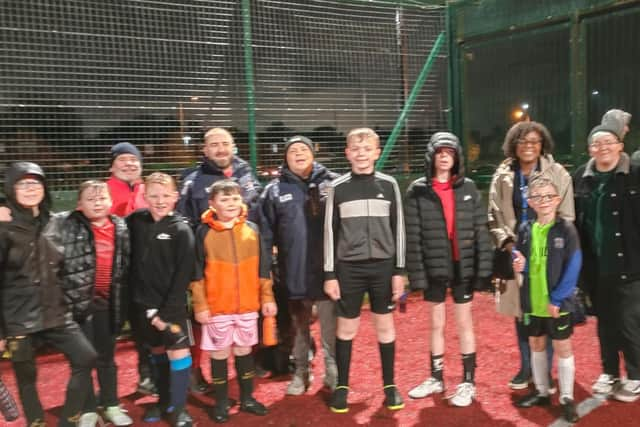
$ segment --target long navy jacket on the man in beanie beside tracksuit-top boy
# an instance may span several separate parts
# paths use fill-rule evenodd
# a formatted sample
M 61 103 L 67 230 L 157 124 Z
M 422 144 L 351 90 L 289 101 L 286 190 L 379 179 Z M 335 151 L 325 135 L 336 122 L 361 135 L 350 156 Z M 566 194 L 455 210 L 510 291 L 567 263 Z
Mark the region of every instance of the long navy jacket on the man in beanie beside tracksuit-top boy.
M 260 196 L 258 216 L 262 268 L 271 268 L 271 251 L 278 248 L 279 286 L 290 299 L 325 299 L 322 266 L 324 206 L 327 187 L 338 175 L 313 162 L 303 180 L 282 166 Z

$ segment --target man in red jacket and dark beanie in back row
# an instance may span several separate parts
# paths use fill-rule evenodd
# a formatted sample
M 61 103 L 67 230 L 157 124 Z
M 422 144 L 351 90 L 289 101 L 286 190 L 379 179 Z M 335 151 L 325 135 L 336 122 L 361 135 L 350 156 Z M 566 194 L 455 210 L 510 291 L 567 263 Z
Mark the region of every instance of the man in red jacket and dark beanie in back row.
M 107 180 L 113 201 L 111 213 L 127 216 L 136 209 L 146 208 L 142 195 L 142 155 L 135 145 L 119 142 L 111 147 L 111 177 Z

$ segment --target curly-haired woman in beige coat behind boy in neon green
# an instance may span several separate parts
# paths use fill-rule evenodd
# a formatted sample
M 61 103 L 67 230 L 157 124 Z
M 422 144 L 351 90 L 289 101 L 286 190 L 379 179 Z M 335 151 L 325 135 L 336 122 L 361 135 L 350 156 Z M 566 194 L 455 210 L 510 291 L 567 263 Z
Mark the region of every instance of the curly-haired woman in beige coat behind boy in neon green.
M 547 175 L 558 186 L 562 198 L 558 207 L 560 217 L 573 221 L 575 212 L 571 176 L 553 160 L 553 139 L 543 124 L 516 123 L 507 132 L 502 150 L 506 159 L 496 169 L 489 189 L 489 231 L 496 248 L 510 253 L 520 224 L 535 216 L 527 203 L 528 182 L 533 174 Z M 498 310 L 515 317 L 520 350 L 520 370 L 509 382 L 509 387 L 523 389 L 531 378 L 531 363 L 527 334 L 521 319 L 517 281 L 503 281 L 499 292 Z M 549 356 L 553 356 L 552 351 Z

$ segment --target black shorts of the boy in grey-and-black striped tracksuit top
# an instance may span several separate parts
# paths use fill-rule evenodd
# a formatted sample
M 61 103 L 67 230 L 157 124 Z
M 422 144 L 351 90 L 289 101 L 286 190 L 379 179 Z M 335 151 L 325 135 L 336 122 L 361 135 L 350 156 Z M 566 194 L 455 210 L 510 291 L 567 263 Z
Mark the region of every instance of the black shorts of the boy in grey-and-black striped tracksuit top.
M 387 314 L 393 311 L 391 301 L 391 276 L 393 259 L 338 262 L 336 276 L 340 283 L 340 299 L 336 303 L 338 317 L 355 319 L 360 317 L 360 309 L 365 292 L 369 294 L 371 311 Z

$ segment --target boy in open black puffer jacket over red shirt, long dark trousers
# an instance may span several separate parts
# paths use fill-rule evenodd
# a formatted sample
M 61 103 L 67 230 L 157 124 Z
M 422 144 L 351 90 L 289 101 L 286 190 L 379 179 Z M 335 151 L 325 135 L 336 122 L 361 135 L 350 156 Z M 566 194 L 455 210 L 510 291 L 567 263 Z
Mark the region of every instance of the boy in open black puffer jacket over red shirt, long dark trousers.
M 85 181 L 78 208 L 56 217 L 57 239 L 64 248 L 64 287 L 73 318 L 98 353 L 96 368 L 100 406 L 115 426 L 133 423 L 118 405 L 116 336 L 124 323 L 125 286 L 129 271 L 129 231 L 122 218 L 109 215 L 111 197 L 102 181 Z M 80 425 L 98 422 L 98 402 L 87 390 Z

